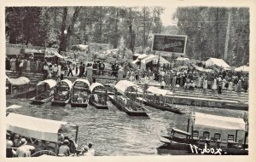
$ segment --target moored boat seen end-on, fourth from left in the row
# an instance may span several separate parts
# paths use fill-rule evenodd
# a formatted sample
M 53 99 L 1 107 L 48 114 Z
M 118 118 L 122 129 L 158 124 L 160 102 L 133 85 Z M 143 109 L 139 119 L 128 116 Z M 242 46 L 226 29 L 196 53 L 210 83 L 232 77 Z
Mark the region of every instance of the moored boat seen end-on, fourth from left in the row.
M 71 106 L 87 107 L 90 94 L 90 82 L 84 78 L 74 81 L 71 89 Z

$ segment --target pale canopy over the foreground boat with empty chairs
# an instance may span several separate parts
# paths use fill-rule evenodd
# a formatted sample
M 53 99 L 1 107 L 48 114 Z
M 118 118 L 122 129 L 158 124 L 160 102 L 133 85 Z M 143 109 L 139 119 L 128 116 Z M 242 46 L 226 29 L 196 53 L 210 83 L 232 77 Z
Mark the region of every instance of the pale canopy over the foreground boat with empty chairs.
M 245 130 L 243 119 L 195 113 L 195 126 L 206 126 L 224 130 Z

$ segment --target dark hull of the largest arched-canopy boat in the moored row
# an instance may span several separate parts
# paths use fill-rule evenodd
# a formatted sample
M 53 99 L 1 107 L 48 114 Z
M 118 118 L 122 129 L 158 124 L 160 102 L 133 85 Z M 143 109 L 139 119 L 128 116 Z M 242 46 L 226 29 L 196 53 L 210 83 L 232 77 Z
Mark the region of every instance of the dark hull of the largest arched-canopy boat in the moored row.
M 123 106 L 122 104 L 119 103 L 119 101 L 115 101 L 113 97 L 109 97 L 110 101 L 113 103 L 115 107 L 117 107 L 120 111 L 123 111 L 127 113 L 129 116 L 143 116 L 143 117 L 148 117 L 148 114 L 143 111 L 131 111 L 127 107 Z

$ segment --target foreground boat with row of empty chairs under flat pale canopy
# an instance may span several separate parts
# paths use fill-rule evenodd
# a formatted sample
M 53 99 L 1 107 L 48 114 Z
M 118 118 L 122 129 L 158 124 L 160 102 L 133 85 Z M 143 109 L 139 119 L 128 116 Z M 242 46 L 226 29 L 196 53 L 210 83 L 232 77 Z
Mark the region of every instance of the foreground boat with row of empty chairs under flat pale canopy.
M 190 123 L 192 123 L 191 131 L 189 131 Z M 218 132 L 212 133 L 212 130 Z M 234 130 L 236 135 L 229 134 Z M 238 130 L 242 130 L 244 139 L 237 139 Z M 244 119 L 190 113 L 186 131 L 172 128 L 170 136 L 159 136 L 159 138 L 160 142 L 163 142 L 162 146 L 156 148 L 159 154 L 248 154 L 247 123 Z

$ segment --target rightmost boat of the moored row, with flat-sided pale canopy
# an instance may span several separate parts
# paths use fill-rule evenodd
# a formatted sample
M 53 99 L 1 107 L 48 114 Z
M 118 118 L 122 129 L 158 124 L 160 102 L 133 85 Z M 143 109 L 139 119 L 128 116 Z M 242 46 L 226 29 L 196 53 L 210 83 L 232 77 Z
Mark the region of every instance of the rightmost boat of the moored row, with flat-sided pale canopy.
M 173 105 L 173 96 L 172 103 L 166 103 L 166 95 L 173 95 L 173 93 L 170 90 L 162 90 L 153 86 L 149 86 L 148 90 L 145 92 L 143 103 L 149 107 L 154 107 L 163 111 L 184 114 L 180 109 Z

